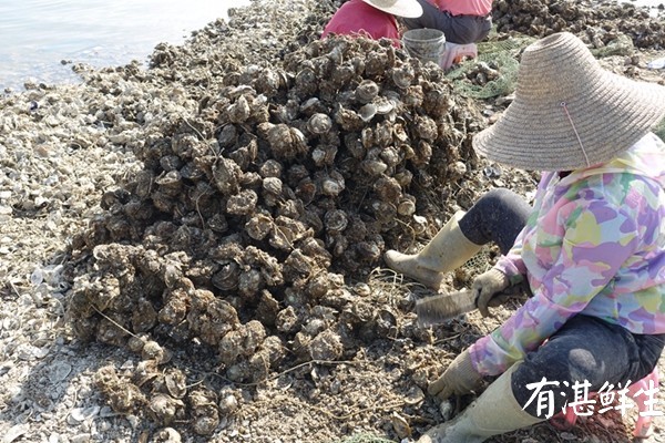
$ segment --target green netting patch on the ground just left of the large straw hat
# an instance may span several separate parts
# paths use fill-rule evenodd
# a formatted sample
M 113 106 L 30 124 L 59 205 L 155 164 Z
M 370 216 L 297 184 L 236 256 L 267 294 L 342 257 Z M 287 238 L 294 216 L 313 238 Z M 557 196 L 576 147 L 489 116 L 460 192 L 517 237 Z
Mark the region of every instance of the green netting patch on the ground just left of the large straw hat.
M 515 90 L 519 54 L 535 40 L 522 37 L 478 43 L 478 58 L 461 62 L 446 76 L 462 96 L 484 100 L 509 95 Z

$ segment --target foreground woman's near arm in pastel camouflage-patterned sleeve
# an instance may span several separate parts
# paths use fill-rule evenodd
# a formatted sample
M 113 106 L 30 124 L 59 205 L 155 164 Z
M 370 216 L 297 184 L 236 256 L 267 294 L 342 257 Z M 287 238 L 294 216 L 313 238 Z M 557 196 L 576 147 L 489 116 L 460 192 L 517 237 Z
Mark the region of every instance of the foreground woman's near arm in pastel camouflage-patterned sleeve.
M 543 255 L 545 262 L 552 260 L 548 254 L 557 255 L 542 276 L 532 276 L 533 297 L 470 348 L 473 367 L 483 375 L 502 373 L 582 311 L 638 243 L 634 217 L 605 200 L 569 203 L 559 209 L 556 218 L 564 230 L 559 246 L 549 245 L 551 238 L 541 238 L 542 244 L 534 248 L 535 256 Z M 534 280 L 538 287 L 533 287 Z

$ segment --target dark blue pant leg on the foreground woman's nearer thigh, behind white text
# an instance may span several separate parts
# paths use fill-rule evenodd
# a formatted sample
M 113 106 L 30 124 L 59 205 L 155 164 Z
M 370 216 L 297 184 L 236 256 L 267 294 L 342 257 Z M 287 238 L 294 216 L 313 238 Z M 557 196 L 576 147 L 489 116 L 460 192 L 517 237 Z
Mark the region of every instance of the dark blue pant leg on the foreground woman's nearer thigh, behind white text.
M 664 343 L 665 334 L 632 333 L 618 324 L 577 315 L 526 354 L 511 378 L 513 395 L 531 415 L 546 419 L 566 403 L 590 400 L 591 392 L 620 390 L 643 379 L 657 364 Z M 603 405 L 591 406 L 581 411 L 597 412 Z

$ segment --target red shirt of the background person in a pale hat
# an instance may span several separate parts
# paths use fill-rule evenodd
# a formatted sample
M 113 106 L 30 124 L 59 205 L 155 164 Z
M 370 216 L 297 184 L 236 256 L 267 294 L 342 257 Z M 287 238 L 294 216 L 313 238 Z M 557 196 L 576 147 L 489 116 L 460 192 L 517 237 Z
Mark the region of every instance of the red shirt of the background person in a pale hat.
M 392 14 L 380 11 L 362 0 L 349 0 L 344 3 L 332 16 L 321 39 L 329 33 L 347 35 L 365 35 L 379 40 L 392 39 L 399 45 L 400 34 L 397 20 Z

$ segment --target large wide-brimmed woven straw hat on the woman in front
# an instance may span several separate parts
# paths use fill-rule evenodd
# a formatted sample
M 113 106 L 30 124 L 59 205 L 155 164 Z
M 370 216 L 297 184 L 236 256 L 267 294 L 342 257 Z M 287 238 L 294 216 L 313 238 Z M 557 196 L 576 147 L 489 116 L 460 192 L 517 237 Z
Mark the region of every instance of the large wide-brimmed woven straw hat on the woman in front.
M 665 87 L 603 70 L 569 32 L 529 45 L 514 101 L 473 148 L 531 171 L 572 171 L 626 151 L 665 117 Z

